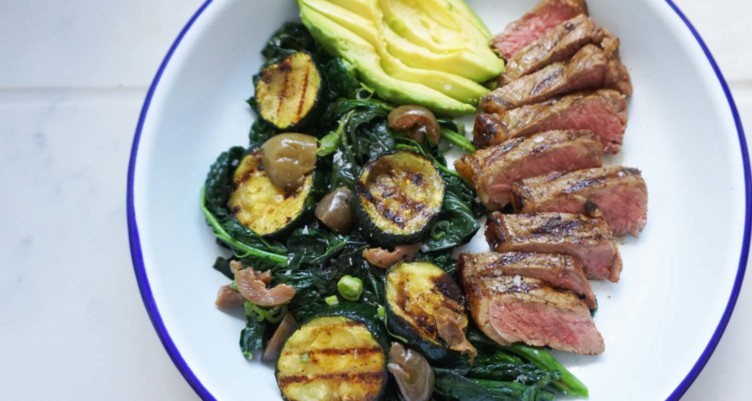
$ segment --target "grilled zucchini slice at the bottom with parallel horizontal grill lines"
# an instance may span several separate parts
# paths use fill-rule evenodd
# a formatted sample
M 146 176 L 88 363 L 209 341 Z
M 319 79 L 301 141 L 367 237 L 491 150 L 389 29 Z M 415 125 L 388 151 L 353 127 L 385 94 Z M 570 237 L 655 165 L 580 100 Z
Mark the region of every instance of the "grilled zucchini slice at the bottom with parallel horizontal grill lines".
M 276 377 L 288 401 L 377 400 L 387 382 L 386 354 L 363 323 L 318 317 L 287 340 Z

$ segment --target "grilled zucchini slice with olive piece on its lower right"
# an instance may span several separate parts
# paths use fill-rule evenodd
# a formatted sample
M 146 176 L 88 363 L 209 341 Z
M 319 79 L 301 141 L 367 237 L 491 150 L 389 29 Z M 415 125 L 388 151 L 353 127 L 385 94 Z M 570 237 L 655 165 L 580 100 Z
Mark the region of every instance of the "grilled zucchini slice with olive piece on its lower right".
M 475 348 L 464 336 L 468 320 L 462 292 L 438 266 L 411 262 L 392 267 L 386 276 L 386 300 L 389 330 L 406 338 L 429 360 L 447 365 L 467 360 L 463 354 L 475 356 Z M 457 333 L 453 336 L 441 327 L 446 315 L 459 316 L 451 323 Z

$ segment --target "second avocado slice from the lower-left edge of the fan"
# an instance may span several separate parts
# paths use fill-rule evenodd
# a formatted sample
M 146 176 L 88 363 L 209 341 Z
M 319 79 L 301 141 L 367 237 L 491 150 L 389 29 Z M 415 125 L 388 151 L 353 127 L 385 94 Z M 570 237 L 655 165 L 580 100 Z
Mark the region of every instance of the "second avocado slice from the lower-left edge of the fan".
M 487 88 L 464 76 L 405 65 L 387 51 L 378 20 L 361 17 L 329 1 L 302 0 L 302 2 L 371 44 L 381 59 L 384 71 L 394 78 L 420 82 L 463 103 L 476 104 L 481 96 L 488 93 Z

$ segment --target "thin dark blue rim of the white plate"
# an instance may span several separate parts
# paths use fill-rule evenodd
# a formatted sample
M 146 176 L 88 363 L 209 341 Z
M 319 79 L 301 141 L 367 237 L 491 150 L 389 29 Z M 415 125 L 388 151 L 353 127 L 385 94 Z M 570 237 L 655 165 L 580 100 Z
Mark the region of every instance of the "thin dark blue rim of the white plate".
M 191 29 L 191 27 L 193 27 L 193 25 L 196 23 L 198 18 L 204 13 L 204 11 L 206 11 L 208 6 L 212 2 L 213 0 L 206 0 L 188 20 L 188 22 L 182 28 L 177 38 L 173 41 L 172 45 L 167 51 L 167 54 L 162 60 L 162 63 L 160 64 L 159 69 L 157 70 L 157 73 L 155 74 L 154 79 L 152 80 L 152 83 L 149 86 L 149 90 L 146 93 L 146 97 L 144 99 L 144 103 L 141 108 L 141 113 L 139 114 L 138 124 L 136 125 L 136 132 L 133 137 L 133 143 L 131 146 L 130 160 L 128 163 L 128 178 L 127 178 L 127 193 L 126 193 L 128 240 L 130 243 L 131 259 L 133 262 L 133 269 L 136 275 L 136 281 L 138 282 L 138 287 L 141 293 L 141 298 L 144 302 L 144 306 L 146 307 L 146 311 L 149 314 L 149 318 L 151 319 L 152 325 L 154 326 L 154 329 L 156 330 L 159 336 L 159 339 L 162 342 L 162 345 L 164 346 L 165 350 L 167 350 L 167 353 L 172 359 L 173 363 L 178 368 L 178 370 L 183 375 L 183 377 L 188 382 L 188 384 L 196 392 L 196 394 L 198 394 L 198 396 L 201 397 L 202 400 L 206 400 L 206 401 L 209 401 L 209 400 L 214 401 L 216 400 L 216 398 L 209 392 L 209 390 L 203 385 L 203 383 L 201 383 L 198 377 L 196 377 L 196 375 L 193 373 L 191 368 L 188 366 L 188 363 L 180 354 L 180 351 L 178 350 L 177 346 L 173 342 L 172 338 L 170 337 L 169 332 L 167 331 L 167 328 L 164 325 L 164 322 L 162 321 L 162 317 L 159 313 L 159 308 L 157 307 L 157 304 L 154 300 L 154 295 L 151 292 L 151 287 L 149 285 L 149 280 L 146 274 L 146 266 L 144 264 L 143 254 L 141 252 L 141 242 L 140 242 L 140 238 L 138 235 L 138 225 L 136 223 L 136 212 L 135 212 L 133 191 L 134 191 L 134 180 L 135 180 L 135 170 L 136 170 L 136 159 L 138 156 L 138 145 L 141 139 L 141 133 L 143 130 L 144 122 L 146 121 L 146 116 L 149 112 L 149 106 L 151 105 L 151 101 L 154 97 L 154 93 L 156 92 L 157 86 L 159 85 L 162 75 L 165 69 L 167 68 L 167 65 L 172 59 L 173 54 L 175 53 L 176 49 L 182 42 L 183 38 Z M 736 277 L 734 279 L 734 286 L 732 288 L 732 291 L 729 296 L 729 300 L 723 312 L 723 315 L 721 316 L 721 320 L 716 326 L 716 329 L 713 332 L 713 335 L 711 336 L 710 341 L 708 342 L 708 345 L 700 354 L 700 357 L 695 362 L 692 369 L 690 369 L 689 373 L 687 373 L 687 375 L 679 383 L 676 389 L 674 389 L 674 391 L 669 395 L 668 400 L 676 401 L 676 400 L 679 400 L 684 395 L 684 393 L 689 389 L 689 387 L 692 385 L 692 383 L 695 381 L 697 376 L 700 374 L 702 369 L 707 364 L 708 360 L 710 359 L 710 356 L 713 354 L 713 351 L 715 351 L 715 348 L 717 347 L 718 342 L 723 336 L 723 333 L 726 330 L 726 327 L 728 326 L 728 322 L 731 319 L 731 315 L 734 311 L 734 307 L 736 306 L 736 301 L 741 291 L 742 282 L 744 281 L 744 274 L 747 268 L 747 259 L 749 256 L 749 248 L 750 248 L 750 224 L 751 224 L 750 213 L 752 212 L 752 173 L 750 172 L 750 160 L 749 160 L 749 153 L 747 150 L 747 141 L 744 135 L 744 128 L 742 126 L 739 112 L 736 108 L 736 103 L 734 102 L 733 96 L 731 94 L 731 90 L 729 89 L 729 86 L 726 83 L 726 79 L 723 77 L 723 74 L 721 73 L 721 70 L 718 67 L 718 64 L 716 63 L 715 58 L 710 52 L 710 49 L 708 48 L 708 46 L 705 44 L 705 41 L 700 36 L 700 33 L 697 31 L 694 25 L 689 21 L 689 19 L 684 14 L 684 12 L 681 11 L 681 9 L 674 3 L 673 0 L 665 0 L 665 2 L 676 13 L 679 19 L 681 19 L 681 21 L 686 25 L 686 27 L 692 33 L 692 36 L 694 36 L 695 40 L 700 45 L 703 53 L 705 54 L 705 57 L 707 58 L 711 67 L 713 68 L 713 72 L 718 78 L 721 88 L 723 89 L 724 95 L 726 96 L 726 100 L 729 104 L 729 109 L 731 110 L 731 114 L 733 116 L 734 123 L 735 123 L 736 130 L 737 130 L 737 136 L 739 139 L 739 146 L 740 146 L 741 156 L 742 156 L 742 164 L 744 168 L 744 193 L 745 193 L 745 223 L 744 223 L 743 242 L 742 242 L 741 254 L 739 256 L 739 267 L 736 273 Z

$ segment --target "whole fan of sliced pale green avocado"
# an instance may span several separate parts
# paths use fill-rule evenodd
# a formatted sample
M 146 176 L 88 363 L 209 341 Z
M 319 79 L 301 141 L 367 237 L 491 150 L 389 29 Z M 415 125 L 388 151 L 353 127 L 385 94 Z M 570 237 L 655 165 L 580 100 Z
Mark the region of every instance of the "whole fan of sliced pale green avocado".
M 420 104 L 442 115 L 473 113 L 488 92 L 479 82 L 504 68 L 488 46 L 487 29 L 461 0 L 297 2 L 316 40 L 397 104 Z

